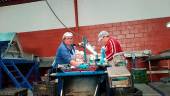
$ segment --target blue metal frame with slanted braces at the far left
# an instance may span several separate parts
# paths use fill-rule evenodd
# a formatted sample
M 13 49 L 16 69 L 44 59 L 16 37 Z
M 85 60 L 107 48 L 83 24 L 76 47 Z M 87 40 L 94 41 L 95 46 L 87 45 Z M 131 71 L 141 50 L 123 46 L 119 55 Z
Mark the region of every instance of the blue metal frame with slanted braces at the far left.
M 2 70 L 4 70 L 7 75 L 10 77 L 11 81 L 14 83 L 14 85 L 17 88 L 20 87 L 28 87 L 29 89 L 32 89 L 32 85 L 28 82 L 27 79 L 29 79 L 30 75 L 35 71 L 35 78 L 36 81 L 40 79 L 39 77 L 39 62 L 38 60 L 32 58 L 31 60 L 24 57 L 24 53 L 22 51 L 22 48 L 19 44 L 19 41 L 17 39 L 16 33 L 3 33 L 2 35 L 6 36 L 6 38 L 2 38 L 0 40 L 0 75 L 2 74 Z M 9 58 L 8 56 L 5 57 L 9 49 L 13 46 L 12 42 L 15 41 L 17 45 L 14 46 L 16 49 L 14 51 L 19 51 L 19 58 Z M 13 51 L 13 50 L 12 50 Z M 23 64 L 31 64 L 31 68 L 29 69 L 28 73 L 24 76 L 23 73 L 17 68 L 17 66 Z M 17 65 L 17 66 L 16 66 Z M 12 73 L 11 70 L 7 66 L 12 66 L 13 71 L 16 72 L 21 79 L 22 82 L 18 82 L 16 79 L 17 76 L 14 76 L 14 73 Z M 3 80 L 2 75 L 0 76 L 0 81 Z M 2 82 L 0 82 L 0 88 L 2 88 Z

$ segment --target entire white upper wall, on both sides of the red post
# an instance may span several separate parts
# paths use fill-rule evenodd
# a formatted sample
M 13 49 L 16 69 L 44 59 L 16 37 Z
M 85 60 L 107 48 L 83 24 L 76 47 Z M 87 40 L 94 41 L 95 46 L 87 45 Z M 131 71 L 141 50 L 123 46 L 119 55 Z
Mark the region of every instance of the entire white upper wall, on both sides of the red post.
M 68 27 L 75 26 L 74 0 L 48 0 Z M 80 26 L 170 16 L 170 0 L 78 0 Z M 0 32 L 63 28 L 45 1 L 0 7 Z

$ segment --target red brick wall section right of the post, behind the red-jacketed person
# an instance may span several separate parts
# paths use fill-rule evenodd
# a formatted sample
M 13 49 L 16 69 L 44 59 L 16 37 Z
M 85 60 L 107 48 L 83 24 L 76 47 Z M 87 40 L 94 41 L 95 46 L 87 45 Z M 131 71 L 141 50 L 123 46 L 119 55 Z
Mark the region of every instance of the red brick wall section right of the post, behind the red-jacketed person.
M 94 37 L 90 40 L 96 45 L 95 36 L 99 31 L 107 30 L 121 42 L 125 51 L 151 49 L 158 53 L 170 48 L 170 29 L 165 26 L 168 21 L 170 17 L 101 24 L 81 27 L 80 32 L 90 33 L 86 35 L 89 39 Z

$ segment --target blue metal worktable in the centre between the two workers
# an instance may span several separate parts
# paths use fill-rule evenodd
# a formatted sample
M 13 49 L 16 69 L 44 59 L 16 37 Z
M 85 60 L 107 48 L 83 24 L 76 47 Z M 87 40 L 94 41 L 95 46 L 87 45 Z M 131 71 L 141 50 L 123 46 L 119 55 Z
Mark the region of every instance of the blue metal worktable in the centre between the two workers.
M 58 72 L 51 74 L 58 79 L 58 93 L 72 94 L 74 96 L 97 95 L 99 83 L 104 81 L 103 77 L 107 76 L 107 72 L 100 71 L 71 71 Z M 72 90 L 71 92 L 69 90 Z M 69 92 L 68 92 L 69 91 Z

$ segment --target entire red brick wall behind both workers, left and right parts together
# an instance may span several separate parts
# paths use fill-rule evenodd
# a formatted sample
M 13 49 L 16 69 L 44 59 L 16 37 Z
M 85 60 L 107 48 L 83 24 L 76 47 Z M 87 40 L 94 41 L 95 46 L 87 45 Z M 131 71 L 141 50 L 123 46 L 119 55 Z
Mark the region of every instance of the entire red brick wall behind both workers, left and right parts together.
M 80 36 L 76 35 L 74 41 L 81 42 L 82 36 L 86 36 L 99 51 L 97 35 L 100 31 L 106 30 L 121 42 L 124 51 L 150 49 L 157 54 L 170 49 L 170 28 L 165 26 L 168 21 L 170 17 L 82 26 L 79 29 Z M 68 30 L 52 29 L 23 32 L 19 33 L 19 39 L 26 52 L 35 53 L 38 56 L 54 56 L 62 35 L 66 31 Z

